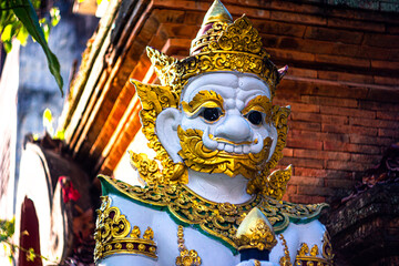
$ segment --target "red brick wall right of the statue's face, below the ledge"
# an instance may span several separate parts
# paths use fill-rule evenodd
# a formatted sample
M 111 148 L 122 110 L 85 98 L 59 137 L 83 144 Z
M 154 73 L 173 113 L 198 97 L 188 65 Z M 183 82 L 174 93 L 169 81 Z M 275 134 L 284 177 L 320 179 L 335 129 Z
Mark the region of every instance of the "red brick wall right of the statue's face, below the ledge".
M 289 78 L 289 76 L 288 76 Z M 285 200 L 331 202 L 347 196 L 364 171 L 399 141 L 399 104 L 371 88 L 282 82 L 276 104 L 290 105 L 289 133 L 282 166 L 294 165 Z

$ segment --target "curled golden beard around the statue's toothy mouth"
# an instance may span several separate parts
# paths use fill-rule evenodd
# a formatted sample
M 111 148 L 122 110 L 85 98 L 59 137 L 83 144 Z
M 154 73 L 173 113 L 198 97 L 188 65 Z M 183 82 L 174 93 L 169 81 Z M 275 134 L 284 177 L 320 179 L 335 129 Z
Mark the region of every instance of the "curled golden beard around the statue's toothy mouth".
M 178 155 L 186 166 L 204 173 L 224 173 L 231 177 L 242 174 L 246 178 L 254 178 L 267 163 L 272 147 L 272 139 L 264 140 L 264 147 L 259 153 L 238 154 L 225 151 L 212 151 L 203 143 L 204 132 L 188 129 L 177 129 L 182 150 Z

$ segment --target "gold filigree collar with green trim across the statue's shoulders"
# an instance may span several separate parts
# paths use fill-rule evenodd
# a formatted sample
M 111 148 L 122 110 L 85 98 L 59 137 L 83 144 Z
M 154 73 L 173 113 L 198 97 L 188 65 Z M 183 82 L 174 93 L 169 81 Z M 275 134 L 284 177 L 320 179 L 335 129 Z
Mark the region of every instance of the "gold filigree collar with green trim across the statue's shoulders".
M 139 187 L 108 176 L 100 175 L 106 191 L 122 194 L 140 204 L 153 208 L 165 208 L 183 225 L 195 225 L 201 232 L 219 239 L 236 253 L 235 235 L 243 218 L 258 207 L 270 222 L 275 233 L 287 228 L 289 222 L 317 217 L 327 204 L 301 205 L 257 195 L 244 204 L 214 203 L 207 201 L 185 185 Z

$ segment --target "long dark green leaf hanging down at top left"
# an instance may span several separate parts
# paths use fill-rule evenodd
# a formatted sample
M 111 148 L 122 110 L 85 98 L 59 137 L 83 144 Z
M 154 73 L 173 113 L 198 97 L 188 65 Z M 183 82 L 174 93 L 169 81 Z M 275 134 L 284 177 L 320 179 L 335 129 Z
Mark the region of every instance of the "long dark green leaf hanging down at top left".
M 14 0 L 12 1 L 13 12 L 17 18 L 22 22 L 27 28 L 29 34 L 42 47 L 45 57 L 48 59 L 49 69 L 51 74 L 54 76 L 57 84 L 60 88 L 61 94 L 63 95 L 62 86 L 63 81 L 60 73 L 60 63 L 57 57 L 51 52 L 43 33 L 43 30 L 40 28 L 39 18 L 34 11 L 34 8 L 29 0 Z

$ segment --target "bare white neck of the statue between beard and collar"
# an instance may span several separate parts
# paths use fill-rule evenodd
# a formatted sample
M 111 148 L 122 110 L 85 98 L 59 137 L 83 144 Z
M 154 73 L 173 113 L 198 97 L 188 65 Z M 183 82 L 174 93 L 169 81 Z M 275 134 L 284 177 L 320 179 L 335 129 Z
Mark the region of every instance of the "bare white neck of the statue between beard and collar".
M 188 170 L 187 186 L 200 196 L 217 203 L 241 204 L 250 200 L 246 193 L 248 180 L 242 175 L 207 174 Z

